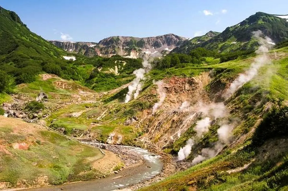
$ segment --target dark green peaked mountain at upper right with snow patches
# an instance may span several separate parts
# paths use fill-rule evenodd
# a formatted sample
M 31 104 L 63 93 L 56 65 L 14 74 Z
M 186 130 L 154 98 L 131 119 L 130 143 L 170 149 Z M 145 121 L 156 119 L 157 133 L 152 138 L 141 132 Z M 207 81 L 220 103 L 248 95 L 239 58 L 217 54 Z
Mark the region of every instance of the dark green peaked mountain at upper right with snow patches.
M 287 15 L 257 12 L 242 22 L 232 27 L 227 27 L 222 33 L 210 31 L 204 36 L 190 39 L 173 50 L 173 52 L 189 53 L 197 47 L 218 50 L 219 52 L 254 50 L 258 43 L 253 39 L 252 32 L 257 30 L 262 31 L 264 35 L 270 37 L 275 43 L 279 43 L 288 39 L 287 19 Z

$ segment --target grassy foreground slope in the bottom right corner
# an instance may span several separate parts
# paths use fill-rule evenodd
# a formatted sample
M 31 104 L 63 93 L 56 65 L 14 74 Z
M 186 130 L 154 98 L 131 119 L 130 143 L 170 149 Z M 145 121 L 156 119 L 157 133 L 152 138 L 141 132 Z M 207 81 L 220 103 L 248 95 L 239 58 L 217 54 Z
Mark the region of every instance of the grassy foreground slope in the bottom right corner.
M 287 157 L 278 153 L 272 159 L 253 162 L 246 170 L 227 173 L 257 157 L 257 152 L 244 147 L 233 154 L 221 154 L 195 165 L 186 171 L 176 173 L 144 190 L 278 190 L 287 185 Z

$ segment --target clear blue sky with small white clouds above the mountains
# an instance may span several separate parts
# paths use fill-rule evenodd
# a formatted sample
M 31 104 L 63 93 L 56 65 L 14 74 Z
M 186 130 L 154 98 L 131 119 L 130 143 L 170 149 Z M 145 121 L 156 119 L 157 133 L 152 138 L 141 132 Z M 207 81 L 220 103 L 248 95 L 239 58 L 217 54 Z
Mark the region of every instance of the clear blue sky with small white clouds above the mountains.
M 0 0 L 45 39 L 92 41 L 109 36 L 223 31 L 261 11 L 288 14 L 287 0 Z

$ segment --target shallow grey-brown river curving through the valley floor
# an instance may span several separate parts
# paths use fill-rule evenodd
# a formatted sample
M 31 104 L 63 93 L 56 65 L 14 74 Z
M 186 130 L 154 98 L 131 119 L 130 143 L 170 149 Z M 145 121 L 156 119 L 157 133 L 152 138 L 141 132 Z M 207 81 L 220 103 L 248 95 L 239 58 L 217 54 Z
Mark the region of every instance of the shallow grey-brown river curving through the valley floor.
M 118 190 L 120 188 L 125 188 L 130 185 L 137 184 L 139 182 L 143 182 L 161 173 L 163 163 L 161 162 L 158 155 L 155 155 L 139 147 L 131 147 L 131 146 L 121 146 L 121 147 L 128 148 L 133 152 L 143 156 L 145 162 L 135 168 L 124 169 L 122 171 L 119 171 L 118 174 L 113 174 L 109 177 L 102 179 L 80 181 L 76 183 L 63 184 L 58 186 L 30 188 L 27 190 L 28 191 L 58 191 L 58 190 L 111 191 L 111 190 Z

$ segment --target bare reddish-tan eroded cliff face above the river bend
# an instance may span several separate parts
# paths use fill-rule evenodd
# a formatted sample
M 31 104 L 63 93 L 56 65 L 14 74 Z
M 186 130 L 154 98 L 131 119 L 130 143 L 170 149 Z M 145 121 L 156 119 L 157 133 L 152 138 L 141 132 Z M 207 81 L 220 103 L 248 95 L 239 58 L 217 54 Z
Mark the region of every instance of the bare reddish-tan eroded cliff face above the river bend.
M 143 111 L 137 123 L 143 128 L 142 142 L 152 142 L 163 149 L 175 142 L 194 124 L 199 116 L 197 103 L 209 103 L 205 86 L 209 84 L 209 73 L 196 77 L 172 77 L 163 80 L 166 98 L 154 114 Z M 154 90 L 155 91 L 155 90 Z M 156 92 L 154 92 L 156 94 Z

